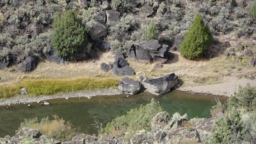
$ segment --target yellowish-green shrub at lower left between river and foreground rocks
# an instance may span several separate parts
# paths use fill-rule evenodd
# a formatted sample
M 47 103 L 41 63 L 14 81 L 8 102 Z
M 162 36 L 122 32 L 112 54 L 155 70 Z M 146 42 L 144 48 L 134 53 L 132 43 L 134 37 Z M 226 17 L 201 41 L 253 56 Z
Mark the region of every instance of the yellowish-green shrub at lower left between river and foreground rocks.
M 54 140 L 71 140 L 76 132 L 75 129 L 71 127 L 70 122 L 66 122 L 63 118 L 60 119 L 57 115 L 54 115 L 53 117 L 54 120 L 49 120 L 49 117 L 47 116 L 42 118 L 40 122 L 38 122 L 37 118 L 29 120 L 25 119 L 16 132 L 19 132 L 23 127 L 28 127 L 30 129 L 38 129 L 42 134 L 48 138 L 53 138 Z

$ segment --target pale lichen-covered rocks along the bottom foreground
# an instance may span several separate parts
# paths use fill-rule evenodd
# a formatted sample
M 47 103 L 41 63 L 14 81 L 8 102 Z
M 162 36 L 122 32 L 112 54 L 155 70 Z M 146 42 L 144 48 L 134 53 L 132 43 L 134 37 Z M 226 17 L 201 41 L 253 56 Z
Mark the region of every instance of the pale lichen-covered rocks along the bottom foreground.
M 77 134 L 71 141 L 56 141 L 47 138 L 35 129 L 23 128 L 15 136 L 0 138 L 0 143 L 14 144 L 28 139 L 33 143 L 63 143 L 63 144 L 142 144 L 142 143 L 201 143 L 211 136 L 211 129 L 215 127 L 216 118 L 192 118 L 188 121 L 187 115 L 158 113 L 152 119 L 152 131 L 141 130 L 136 132 L 130 140 L 124 138 L 99 138 L 88 134 Z

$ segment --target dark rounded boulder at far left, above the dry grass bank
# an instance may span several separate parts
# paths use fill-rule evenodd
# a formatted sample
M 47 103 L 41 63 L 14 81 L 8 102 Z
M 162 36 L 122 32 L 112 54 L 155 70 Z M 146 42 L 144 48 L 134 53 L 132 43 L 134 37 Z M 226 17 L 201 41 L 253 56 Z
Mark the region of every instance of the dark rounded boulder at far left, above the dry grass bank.
M 29 56 L 20 66 L 20 70 L 22 70 L 22 72 L 29 72 L 35 70 L 37 65 L 38 61 L 36 60 L 36 58 Z

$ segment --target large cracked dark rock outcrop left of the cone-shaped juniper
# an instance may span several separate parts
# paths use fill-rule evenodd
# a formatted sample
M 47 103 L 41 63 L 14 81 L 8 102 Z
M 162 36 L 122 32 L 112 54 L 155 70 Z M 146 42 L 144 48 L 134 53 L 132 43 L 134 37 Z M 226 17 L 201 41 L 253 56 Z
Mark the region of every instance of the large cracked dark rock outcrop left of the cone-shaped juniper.
M 158 40 L 148 40 L 132 45 L 127 52 L 129 60 L 143 63 L 166 63 L 170 59 L 169 46 L 159 44 Z

